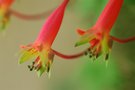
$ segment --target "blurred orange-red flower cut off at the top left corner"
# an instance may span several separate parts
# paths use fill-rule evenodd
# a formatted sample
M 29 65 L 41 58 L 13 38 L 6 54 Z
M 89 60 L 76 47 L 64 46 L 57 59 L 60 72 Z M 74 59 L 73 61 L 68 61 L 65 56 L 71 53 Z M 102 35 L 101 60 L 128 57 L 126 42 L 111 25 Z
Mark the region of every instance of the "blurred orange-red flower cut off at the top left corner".
M 14 0 L 0 0 L 0 22 L 1 29 L 4 29 L 10 19 L 9 8 Z

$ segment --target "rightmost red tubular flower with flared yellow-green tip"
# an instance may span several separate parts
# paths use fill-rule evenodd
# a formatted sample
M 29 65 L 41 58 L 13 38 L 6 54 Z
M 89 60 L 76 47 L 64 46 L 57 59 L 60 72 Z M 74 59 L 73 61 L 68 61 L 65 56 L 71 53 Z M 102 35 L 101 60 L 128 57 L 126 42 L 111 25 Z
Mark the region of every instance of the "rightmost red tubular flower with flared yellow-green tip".
M 122 4 L 123 0 L 109 0 L 92 28 L 87 31 L 78 30 L 78 33 L 82 35 L 82 37 L 75 46 L 90 42 L 91 56 L 97 58 L 99 55 L 104 54 L 105 60 L 107 60 L 112 48 L 110 31 L 118 17 Z

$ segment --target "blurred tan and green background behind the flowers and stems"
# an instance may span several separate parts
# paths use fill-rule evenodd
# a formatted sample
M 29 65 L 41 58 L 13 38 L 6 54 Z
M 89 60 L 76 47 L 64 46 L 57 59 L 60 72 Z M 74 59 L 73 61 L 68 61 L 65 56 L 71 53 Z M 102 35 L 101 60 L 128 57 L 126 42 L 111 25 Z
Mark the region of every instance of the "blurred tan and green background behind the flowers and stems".
M 56 8 L 63 0 L 17 0 L 12 9 L 36 14 Z M 87 30 L 96 21 L 108 0 L 70 0 L 61 30 L 53 49 L 65 54 L 82 51 L 88 45 L 75 48 L 77 28 Z M 5 32 L 0 34 L 0 90 L 135 90 L 135 42 L 114 42 L 109 63 L 102 57 L 64 60 L 55 57 L 51 78 L 38 78 L 27 64 L 18 64 L 20 45 L 34 41 L 46 17 L 37 21 L 11 17 Z M 135 0 L 125 0 L 111 34 L 126 38 L 135 35 Z

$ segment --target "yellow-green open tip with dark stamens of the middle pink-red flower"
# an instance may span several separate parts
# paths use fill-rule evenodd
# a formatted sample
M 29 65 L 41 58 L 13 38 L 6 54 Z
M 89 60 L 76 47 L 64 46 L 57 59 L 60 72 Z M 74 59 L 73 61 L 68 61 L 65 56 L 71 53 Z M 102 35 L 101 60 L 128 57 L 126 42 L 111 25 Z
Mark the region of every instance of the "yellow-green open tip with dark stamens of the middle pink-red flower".
M 25 47 L 21 53 L 19 64 L 34 59 L 32 65 L 28 65 L 30 71 L 36 71 L 38 77 L 44 72 L 49 73 L 54 54 L 46 49 L 38 50 L 37 47 Z

